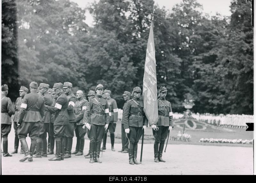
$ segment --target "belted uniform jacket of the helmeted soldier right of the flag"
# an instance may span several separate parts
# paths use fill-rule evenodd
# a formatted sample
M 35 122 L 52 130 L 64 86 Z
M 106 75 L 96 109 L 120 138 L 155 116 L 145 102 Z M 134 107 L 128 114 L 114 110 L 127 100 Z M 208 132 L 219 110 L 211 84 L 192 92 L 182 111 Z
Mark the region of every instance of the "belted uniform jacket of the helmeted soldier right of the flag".
M 162 103 L 161 101 L 164 103 Z M 164 107 L 166 106 L 166 108 Z M 158 99 L 158 126 L 172 126 L 173 127 L 173 116 L 172 116 L 172 106 L 167 100 Z

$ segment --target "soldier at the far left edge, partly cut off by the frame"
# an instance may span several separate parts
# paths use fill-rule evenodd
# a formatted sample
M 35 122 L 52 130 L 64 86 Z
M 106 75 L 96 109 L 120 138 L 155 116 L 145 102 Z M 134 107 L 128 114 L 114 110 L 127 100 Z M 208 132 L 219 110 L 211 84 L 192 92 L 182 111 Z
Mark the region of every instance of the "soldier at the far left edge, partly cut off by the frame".
M 12 101 L 9 97 L 6 97 L 8 94 L 7 84 L 1 86 L 2 98 L 1 98 L 1 141 L 3 138 L 3 150 L 4 157 L 12 156 L 8 153 L 8 134 L 12 128 L 11 116 L 13 113 Z

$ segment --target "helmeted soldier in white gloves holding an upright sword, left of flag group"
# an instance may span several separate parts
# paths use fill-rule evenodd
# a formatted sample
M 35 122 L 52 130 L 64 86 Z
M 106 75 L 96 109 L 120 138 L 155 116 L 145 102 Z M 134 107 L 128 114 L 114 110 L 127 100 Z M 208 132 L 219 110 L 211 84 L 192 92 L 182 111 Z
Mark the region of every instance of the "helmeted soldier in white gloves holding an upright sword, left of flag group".
M 86 128 L 90 130 L 90 134 L 88 134 L 88 137 L 90 138 L 90 163 L 94 163 L 94 161 L 102 163 L 99 160 L 100 143 L 104 135 L 104 126 L 106 130 L 109 124 L 108 101 L 102 98 L 103 92 L 103 85 L 98 84 L 95 90 L 96 95 L 90 99 L 91 101 L 88 103 L 84 112 L 83 122 L 85 123 Z

